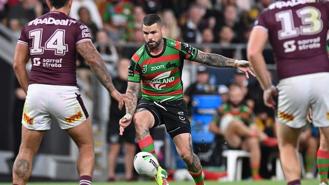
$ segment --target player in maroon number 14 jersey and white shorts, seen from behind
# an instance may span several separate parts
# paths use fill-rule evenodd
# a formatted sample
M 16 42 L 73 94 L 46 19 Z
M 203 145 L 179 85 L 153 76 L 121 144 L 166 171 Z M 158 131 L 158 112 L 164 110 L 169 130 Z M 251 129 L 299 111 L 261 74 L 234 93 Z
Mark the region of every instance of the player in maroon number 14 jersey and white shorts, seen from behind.
M 94 149 L 91 120 L 76 86 L 77 52 L 94 74 L 123 105 L 86 25 L 68 15 L 72 0 L 47 0 L 50 12 L 27 23 L 18 39 L 14 70 L 27 93 L 22 116 L 22 142 L 13 167 L 13 184 L 25 184 L 32 160 L 52 118 L 79 148 L 77 169 L 81 184 L 92 184 Z M 30 76 L 25 69 L 31 59 Z

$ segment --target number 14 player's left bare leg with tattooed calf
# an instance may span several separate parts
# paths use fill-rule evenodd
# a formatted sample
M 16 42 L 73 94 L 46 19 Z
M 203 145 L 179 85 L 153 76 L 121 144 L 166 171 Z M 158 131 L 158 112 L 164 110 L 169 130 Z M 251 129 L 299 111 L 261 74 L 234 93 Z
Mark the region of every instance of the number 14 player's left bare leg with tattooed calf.
M 13 166 L 13 183 L 26 184 L 32 171 L 32 161 L 45 131 L 29 130 L 22 126 L 22 142 Z

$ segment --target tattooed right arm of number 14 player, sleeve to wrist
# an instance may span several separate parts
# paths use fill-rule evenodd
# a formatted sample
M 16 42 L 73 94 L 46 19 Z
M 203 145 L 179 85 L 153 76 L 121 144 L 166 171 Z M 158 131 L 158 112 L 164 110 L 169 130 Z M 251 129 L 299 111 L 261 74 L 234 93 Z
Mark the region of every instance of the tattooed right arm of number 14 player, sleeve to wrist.
M 76 45 L 76 50 L 90 65 L 91 70 L 96 75 L 98 80 L 104 85 L 104 87 L 111 92 L 114 90 L 111 77 L 105 67 L 104 61 L 100 54 L 97 52 L 92 42 L 80 42 Z

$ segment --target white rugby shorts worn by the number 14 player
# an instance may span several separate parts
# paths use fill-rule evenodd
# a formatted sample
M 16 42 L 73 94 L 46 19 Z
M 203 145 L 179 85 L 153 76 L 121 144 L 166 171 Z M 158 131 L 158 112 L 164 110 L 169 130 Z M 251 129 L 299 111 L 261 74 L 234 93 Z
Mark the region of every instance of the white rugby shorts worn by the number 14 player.
M 48 130 L 52 118 L 61 129 L 79 125 L 88 112 L 76 86 L 30 84 L 23 109 L 22 124 L 31 130 Z

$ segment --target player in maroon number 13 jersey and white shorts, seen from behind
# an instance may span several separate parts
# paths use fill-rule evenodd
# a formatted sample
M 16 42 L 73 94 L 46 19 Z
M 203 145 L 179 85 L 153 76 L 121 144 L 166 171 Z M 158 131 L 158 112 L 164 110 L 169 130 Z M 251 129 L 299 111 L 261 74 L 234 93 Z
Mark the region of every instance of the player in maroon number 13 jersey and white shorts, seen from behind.
M 264 89 L 264 102 L 274 108 L 278 94 L 277 136 L 280 159 L 289 185 L 300 184 L 298 136 L 309 108 L 312 123 L 321 130 L 318 169 L 321 184 L 328 184 L 329 166 L 329 60 L 326 52 L 329 3 L 316 0 L 281 0 L 261 13 L 252 30 L 248 57 Z M 269 39 L 280 79 L 272 85 L 262 56 Z

